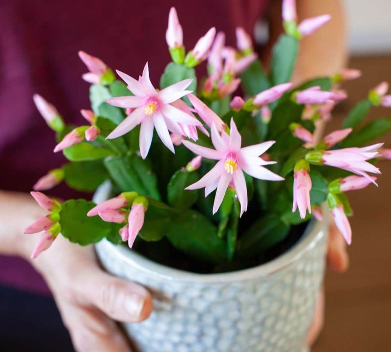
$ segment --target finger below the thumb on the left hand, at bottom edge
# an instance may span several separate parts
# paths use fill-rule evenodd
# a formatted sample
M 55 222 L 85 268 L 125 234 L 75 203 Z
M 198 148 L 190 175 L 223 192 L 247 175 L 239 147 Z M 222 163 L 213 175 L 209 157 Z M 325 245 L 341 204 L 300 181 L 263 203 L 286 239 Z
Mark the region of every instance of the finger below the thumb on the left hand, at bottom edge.
M 77 352 L 131 352 L 116 324 L 101 311 L 62 306 L 64 324 Z

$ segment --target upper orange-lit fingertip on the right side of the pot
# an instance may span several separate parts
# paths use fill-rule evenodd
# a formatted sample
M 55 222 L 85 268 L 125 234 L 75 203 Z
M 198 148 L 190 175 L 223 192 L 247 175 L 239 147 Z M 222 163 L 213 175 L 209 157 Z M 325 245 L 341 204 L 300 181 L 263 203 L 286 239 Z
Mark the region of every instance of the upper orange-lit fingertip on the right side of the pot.
M 347 244 L 334 222 L 329 230 L 327 263 L 337 272 L 345 272 L 349 266 Z

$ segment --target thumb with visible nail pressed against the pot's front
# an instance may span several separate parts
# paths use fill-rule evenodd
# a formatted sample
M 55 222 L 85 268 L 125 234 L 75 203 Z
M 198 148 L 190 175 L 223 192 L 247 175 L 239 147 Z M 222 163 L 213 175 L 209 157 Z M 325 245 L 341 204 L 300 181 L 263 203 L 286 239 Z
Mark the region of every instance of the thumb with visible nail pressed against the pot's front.
M 140 322 L 152 312 L 151 294 L 143 286 L 95 269 L 85 276 L 81 294 L 110 318 Z

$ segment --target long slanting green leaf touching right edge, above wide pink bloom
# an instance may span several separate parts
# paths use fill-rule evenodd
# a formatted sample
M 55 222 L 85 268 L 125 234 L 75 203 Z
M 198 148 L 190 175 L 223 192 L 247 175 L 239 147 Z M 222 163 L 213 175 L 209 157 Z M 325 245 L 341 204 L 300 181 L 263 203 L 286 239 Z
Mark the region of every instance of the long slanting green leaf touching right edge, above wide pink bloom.
M 390 118 L 379 118 L 371 121 L 359 131 L 354 131 L 348 135 L 340 145 L 343 148 L 348 147 L 361 147 L 369 144 L 374 139 L 382 136 L 383 134 L 391 130 L 391 119 Z

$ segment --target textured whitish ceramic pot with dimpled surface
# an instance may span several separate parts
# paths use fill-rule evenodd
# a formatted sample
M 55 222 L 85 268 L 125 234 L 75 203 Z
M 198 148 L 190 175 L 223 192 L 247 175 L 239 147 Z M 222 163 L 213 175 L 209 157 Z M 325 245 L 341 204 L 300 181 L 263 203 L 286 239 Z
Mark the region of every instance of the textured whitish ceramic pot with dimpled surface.
M 103 187 L 94 201 L 108 195 Z M 151 316 L 124 324 L 142 352 L 302 352 L 323 280 L 327 221 L 311 222 L 273 261 L 231 273 L 177 270 L 106 240 L 96 251 L 110 273 L 152 292 Z

